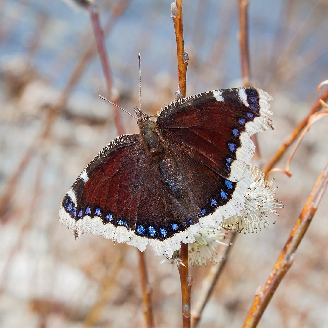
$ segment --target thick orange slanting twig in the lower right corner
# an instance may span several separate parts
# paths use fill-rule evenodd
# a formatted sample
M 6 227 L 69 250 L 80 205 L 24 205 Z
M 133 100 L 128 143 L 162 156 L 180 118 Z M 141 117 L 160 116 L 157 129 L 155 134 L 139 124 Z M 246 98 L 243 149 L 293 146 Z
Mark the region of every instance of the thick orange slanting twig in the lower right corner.
M 260 286 L 255 294 L 253 304 L 247 314 L 243 327 L 256 327 L 272 296 L 283 277 L 294 262 L 295 252 L 314 214 L 328 184 L 328 160 L 319 174 L 317 182 L 309 196 L 302 212 L 297 218 L 295 226 L 290 233 L 285 247 L 281 251 L 277 262 L 264 285 Z

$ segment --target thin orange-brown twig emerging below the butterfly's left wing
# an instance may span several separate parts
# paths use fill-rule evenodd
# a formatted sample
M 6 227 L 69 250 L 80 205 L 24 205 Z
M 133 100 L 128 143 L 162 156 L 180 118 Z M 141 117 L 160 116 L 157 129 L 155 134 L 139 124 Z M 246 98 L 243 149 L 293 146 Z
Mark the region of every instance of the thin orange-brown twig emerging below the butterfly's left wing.
M 151 328 L 154 327 L 153 308 L 151 302 L 152 289 L 149 286 L 149 282 L 148 282 L 144 252 L 138 250 L 138 254 L 139 254 L 139 271 L 140 271 L 142 296 L 143 296 L 142 311 L 146 318 L 147 327 Z

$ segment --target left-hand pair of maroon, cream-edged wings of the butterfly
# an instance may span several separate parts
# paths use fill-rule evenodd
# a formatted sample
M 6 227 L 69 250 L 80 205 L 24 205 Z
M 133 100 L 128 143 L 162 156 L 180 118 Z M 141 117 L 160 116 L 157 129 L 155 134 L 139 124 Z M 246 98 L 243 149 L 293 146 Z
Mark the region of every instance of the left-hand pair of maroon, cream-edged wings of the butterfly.
M 65 195 L 59 220 L 75 236 L 89 232 L 141 251 L 151 243 L 171 256 L 199 225 L 158 179 L 139 137 L 120 136 L 90 162 Z

